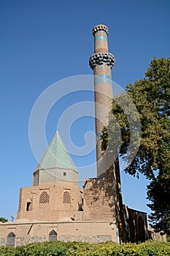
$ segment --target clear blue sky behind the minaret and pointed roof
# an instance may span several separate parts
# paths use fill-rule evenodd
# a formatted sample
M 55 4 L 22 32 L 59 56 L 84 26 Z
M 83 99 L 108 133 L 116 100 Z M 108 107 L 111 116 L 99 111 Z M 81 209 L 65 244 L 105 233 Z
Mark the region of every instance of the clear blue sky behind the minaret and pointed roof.
M 109 51 L 116 59 L 112 80 L 125 88 L 144 78 L 153 56 L 169 57 L 169 12 L 169 0 L 0 1 L 0 217 L 16 217 L 19 189 L 32 183 L 37 162 L 29 143 L 28 121 L 37 97 L 58 80 L 93 74 L 88 66 L 93 26 L 109 27 Z M 48 142 L 62 111 L 82 100 L 92 101 L 93 94 L 73 94 L 53 107 L 45 127 Z M 93 118 L 75 122 L 71 130 L 75 145 L 85 144 L 89 129 L 94 129 Z M 83 166 L 94 159 L 93 152 L 90 158 L 74 157 L 74 163 Z M 149 212 L 147 181 L 121 174 L 123 202 Z

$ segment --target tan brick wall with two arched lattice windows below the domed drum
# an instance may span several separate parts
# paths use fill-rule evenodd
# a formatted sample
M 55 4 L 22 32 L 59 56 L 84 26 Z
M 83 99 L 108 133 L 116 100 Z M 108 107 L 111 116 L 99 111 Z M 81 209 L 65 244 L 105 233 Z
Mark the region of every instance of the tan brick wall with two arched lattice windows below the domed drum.
M 73 218 L 74 211 L 79 209 L 79 190 L 77 182 L 23 187 L 20 189 L 18 219 L 57 221 Z

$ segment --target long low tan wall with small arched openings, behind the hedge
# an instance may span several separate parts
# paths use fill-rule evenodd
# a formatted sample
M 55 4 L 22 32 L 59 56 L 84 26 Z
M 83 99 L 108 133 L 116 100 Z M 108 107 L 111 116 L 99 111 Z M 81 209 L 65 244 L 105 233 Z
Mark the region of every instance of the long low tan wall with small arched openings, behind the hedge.
M 0 246 L 6 245 L 10 232 L 15 233 L 15 246 L 49 240 L 52 230 L 60 241 L 85 241 L 98 243 L 116 241 L 116 227 L 110 222 L 26 222 L 0 224 Z M 26 221 L 26 220 L 25 220 Z

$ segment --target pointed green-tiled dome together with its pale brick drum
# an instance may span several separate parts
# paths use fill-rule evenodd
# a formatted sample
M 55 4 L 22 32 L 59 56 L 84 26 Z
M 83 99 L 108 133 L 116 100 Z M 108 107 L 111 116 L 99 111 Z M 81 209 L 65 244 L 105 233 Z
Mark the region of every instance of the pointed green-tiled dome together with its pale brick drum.
M 34 186 L 55 181 L 77 181 L 78 172 L 58 132 L 34 171 Z

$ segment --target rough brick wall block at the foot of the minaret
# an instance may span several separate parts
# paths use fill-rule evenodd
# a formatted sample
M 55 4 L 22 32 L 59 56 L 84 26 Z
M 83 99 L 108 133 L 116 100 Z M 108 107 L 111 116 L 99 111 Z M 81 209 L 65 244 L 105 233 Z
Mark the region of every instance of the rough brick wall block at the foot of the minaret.
M 110 220 L 115 222 L 113 167 L 104 176 L 84 181 L 84 219 Z

